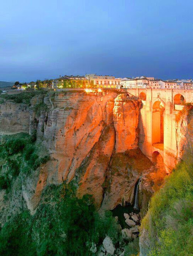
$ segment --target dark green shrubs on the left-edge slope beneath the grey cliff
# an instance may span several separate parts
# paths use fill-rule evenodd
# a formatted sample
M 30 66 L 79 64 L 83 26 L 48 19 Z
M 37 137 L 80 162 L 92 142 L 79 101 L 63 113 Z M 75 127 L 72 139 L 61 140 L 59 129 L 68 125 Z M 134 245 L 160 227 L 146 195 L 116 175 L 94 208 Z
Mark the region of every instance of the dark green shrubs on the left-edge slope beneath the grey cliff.
M 29 174 L 49 160 L 49 155 L 34 138 L 27 134 L 1 137 L 0 142 L 0 189 L 10 191 L 20 174 Z

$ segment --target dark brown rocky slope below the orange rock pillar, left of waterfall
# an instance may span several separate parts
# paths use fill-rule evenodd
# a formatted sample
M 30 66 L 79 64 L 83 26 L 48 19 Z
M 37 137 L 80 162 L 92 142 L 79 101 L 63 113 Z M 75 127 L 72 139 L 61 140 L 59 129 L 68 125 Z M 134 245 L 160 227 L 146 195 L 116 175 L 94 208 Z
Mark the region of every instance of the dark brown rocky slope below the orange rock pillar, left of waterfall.
M 107 171 L 102 209 L 114 209 L 116 205 L 125 205 L 126 202 L 133 203 L 135 184 L 139 177 L 145 177 L 151 171 L 151 166 L 151 161 L 139 149 L 113 154 Z M 140 183 L 143 183 L 143 179 Z

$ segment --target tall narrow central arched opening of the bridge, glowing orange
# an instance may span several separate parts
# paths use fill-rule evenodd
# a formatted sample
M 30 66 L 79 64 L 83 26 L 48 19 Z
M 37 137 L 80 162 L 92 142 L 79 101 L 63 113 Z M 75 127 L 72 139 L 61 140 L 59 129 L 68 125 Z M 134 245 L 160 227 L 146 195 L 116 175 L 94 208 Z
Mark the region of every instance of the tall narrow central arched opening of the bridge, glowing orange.
M 152 109 L 152 144 L 157 145 L 159 149 L 163 150 L 163 112 L 165 108 L 161 101 L 156 101 Z M 155 145 L 156 146 L 156 145 Z

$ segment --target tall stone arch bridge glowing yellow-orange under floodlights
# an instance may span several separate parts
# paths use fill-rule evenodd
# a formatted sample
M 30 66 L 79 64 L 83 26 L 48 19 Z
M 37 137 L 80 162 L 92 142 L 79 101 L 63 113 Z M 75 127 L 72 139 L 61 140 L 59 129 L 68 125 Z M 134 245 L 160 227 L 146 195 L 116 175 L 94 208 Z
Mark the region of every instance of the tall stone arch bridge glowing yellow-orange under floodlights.
M 166 172 L 170 172 L 180 156 L 176 114 L 185 103 L 193 102 L 192 90 L 126 89 L 141 99 L 139 115 L 139 148 L 152 161 L 161 154 Z M 178 132 L 177 132 L 178 131 Z

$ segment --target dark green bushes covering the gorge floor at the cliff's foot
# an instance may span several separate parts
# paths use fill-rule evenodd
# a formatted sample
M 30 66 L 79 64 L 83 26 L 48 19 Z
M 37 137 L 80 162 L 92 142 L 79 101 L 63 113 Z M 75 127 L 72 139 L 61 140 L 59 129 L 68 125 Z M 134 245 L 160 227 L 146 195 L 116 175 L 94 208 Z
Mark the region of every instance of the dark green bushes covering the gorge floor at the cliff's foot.
M 0 231 L 0 255 L 92 256 L 106 235 L 116 244 L 118 224 L 110 212 L 102 218 L 90 196 L 77 199 L 71 185 L 49 186 L 44 201 L 31 216 L 28 211 L 11 218 Z

